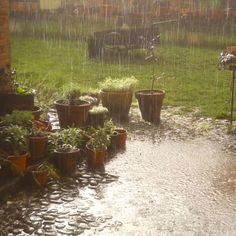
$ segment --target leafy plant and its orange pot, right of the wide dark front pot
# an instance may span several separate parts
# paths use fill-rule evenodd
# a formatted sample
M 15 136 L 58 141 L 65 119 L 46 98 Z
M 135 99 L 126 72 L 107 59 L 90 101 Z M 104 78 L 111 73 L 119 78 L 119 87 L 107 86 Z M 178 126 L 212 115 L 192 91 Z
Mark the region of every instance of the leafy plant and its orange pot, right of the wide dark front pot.
M 110 144 L 110 139 L 105 129 L 91 128 L 91 139 L 86 145 L 88 164 L 89 165 L 102 165 L 104 164 L 107 147 Z

